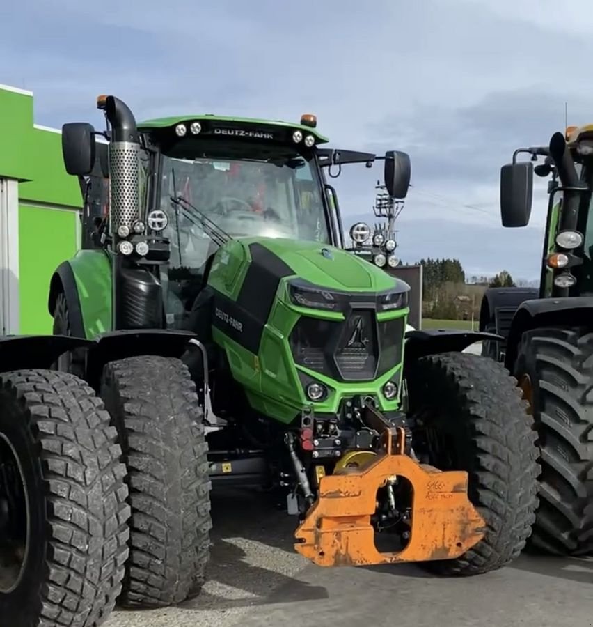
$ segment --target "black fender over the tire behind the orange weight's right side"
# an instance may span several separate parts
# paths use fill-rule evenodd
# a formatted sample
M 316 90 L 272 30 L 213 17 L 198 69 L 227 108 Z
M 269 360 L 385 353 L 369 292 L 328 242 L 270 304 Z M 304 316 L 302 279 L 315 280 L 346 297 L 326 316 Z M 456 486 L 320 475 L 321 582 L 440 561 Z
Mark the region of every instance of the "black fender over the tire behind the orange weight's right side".
M 405 360 L 411 362 L 436 353 L 460 353 L 471 344 L 480 341 L 504 341 L 503 336 L 477 331 L 455 329 L 427 329 L 406 332 Z

